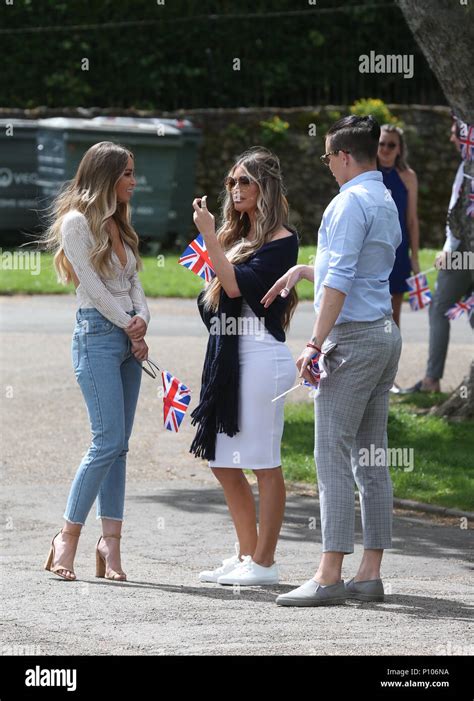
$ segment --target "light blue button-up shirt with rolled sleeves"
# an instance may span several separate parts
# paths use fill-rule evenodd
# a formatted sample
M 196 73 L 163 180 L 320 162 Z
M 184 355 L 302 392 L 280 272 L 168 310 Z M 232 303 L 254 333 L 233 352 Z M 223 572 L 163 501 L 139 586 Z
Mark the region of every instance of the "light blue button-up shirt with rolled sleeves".
M 392 313 L 388 277 L 402 241 L 398 211 L 382 173 L 370 170 L 345 183 L 327 206 L 314 263 L 314 308 L 323 287 L 346 295 L 336 324 L 375 321 Z

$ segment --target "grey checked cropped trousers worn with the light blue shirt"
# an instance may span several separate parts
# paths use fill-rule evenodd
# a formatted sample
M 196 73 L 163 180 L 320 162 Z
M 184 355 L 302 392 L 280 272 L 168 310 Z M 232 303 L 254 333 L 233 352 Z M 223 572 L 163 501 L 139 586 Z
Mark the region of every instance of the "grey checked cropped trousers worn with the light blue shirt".
M 363 465 L 360 449 L 387 449 L 389 390 L 402 341 L 392 316 L 338 324 L 322 346 L 327 376 L 315 396 L 315 450 L 323 552 L 354 551 L 359 490 L 364 548 L 392 547 L 393 488 L 388 465 Z M 373 453 L 375 454 L 375 453 Z M 380 454 L 380 452 L 379 452 Z M 361 465 L 362 463 L 362 465 Z

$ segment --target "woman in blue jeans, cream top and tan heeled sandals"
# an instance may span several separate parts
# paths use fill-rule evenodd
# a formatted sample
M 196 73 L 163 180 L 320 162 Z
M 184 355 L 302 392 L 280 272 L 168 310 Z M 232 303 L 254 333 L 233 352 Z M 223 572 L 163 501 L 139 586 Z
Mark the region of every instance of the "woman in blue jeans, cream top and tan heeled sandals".
M 69 492 L 65 526 L 53 538 L 45 563 L 46 570 L 66 580 L 76 579 L 78 539 L 96 498 L 102 519 L 96 576 L 126 579 L 120 564 L 126 455 L 150 320 L 137 274 L 139 239 L 130 223 L 134 187 L 133 154 L 111 142 L 95 144 L 53 203 L 43 237 L 55 254 L 58 278 L 76 288 L 72 364 L 92 432 Z

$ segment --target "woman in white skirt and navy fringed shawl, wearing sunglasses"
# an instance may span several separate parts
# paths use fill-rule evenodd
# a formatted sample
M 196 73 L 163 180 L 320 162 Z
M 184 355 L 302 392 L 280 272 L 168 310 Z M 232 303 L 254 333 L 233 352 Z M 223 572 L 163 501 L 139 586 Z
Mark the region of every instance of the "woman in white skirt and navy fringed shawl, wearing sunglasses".
M 222 223 L 215 233 L 206 198 L 193 202 L 216 277 L 198 298 L 209 331 L 198 424 L 191 452 L 209 461 L 220 482 L 237 534 L 236 553 L 200 573 L 203 582 L 275 584 L 275 549 L 285 509 L 280 444 L 283 404 L 295 380 L 285 330 L 297 304 L 293 290 L 277 306 L 260 300 L 298 257 L 298 236 L 287 224 L 278 158 L 254 147 L 242 154 L 225 181 Z M 259 491 L 259 523 L 243 472 L 253 470 Z

